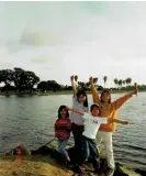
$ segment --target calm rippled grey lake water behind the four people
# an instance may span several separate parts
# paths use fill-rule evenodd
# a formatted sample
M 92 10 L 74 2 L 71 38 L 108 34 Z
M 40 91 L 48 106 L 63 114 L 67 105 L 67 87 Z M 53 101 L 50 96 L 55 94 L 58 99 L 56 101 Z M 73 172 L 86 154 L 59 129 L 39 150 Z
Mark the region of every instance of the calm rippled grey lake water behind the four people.
M 113 95 L 116 99 L 122 95 Z M 92 103 L 89 96 L 89 103 Z M 20 143 L 37 148 L 54 138 L 54 122 L 60 105 L 71 106 L 71 96 L 0 97 L 0 153 Z M 146 169 L 146 94 L 133 97 L 119 111 L 121 119 L 113 136 L 115 161 Z M 70 139 L 71 141 L 71 139 Z

